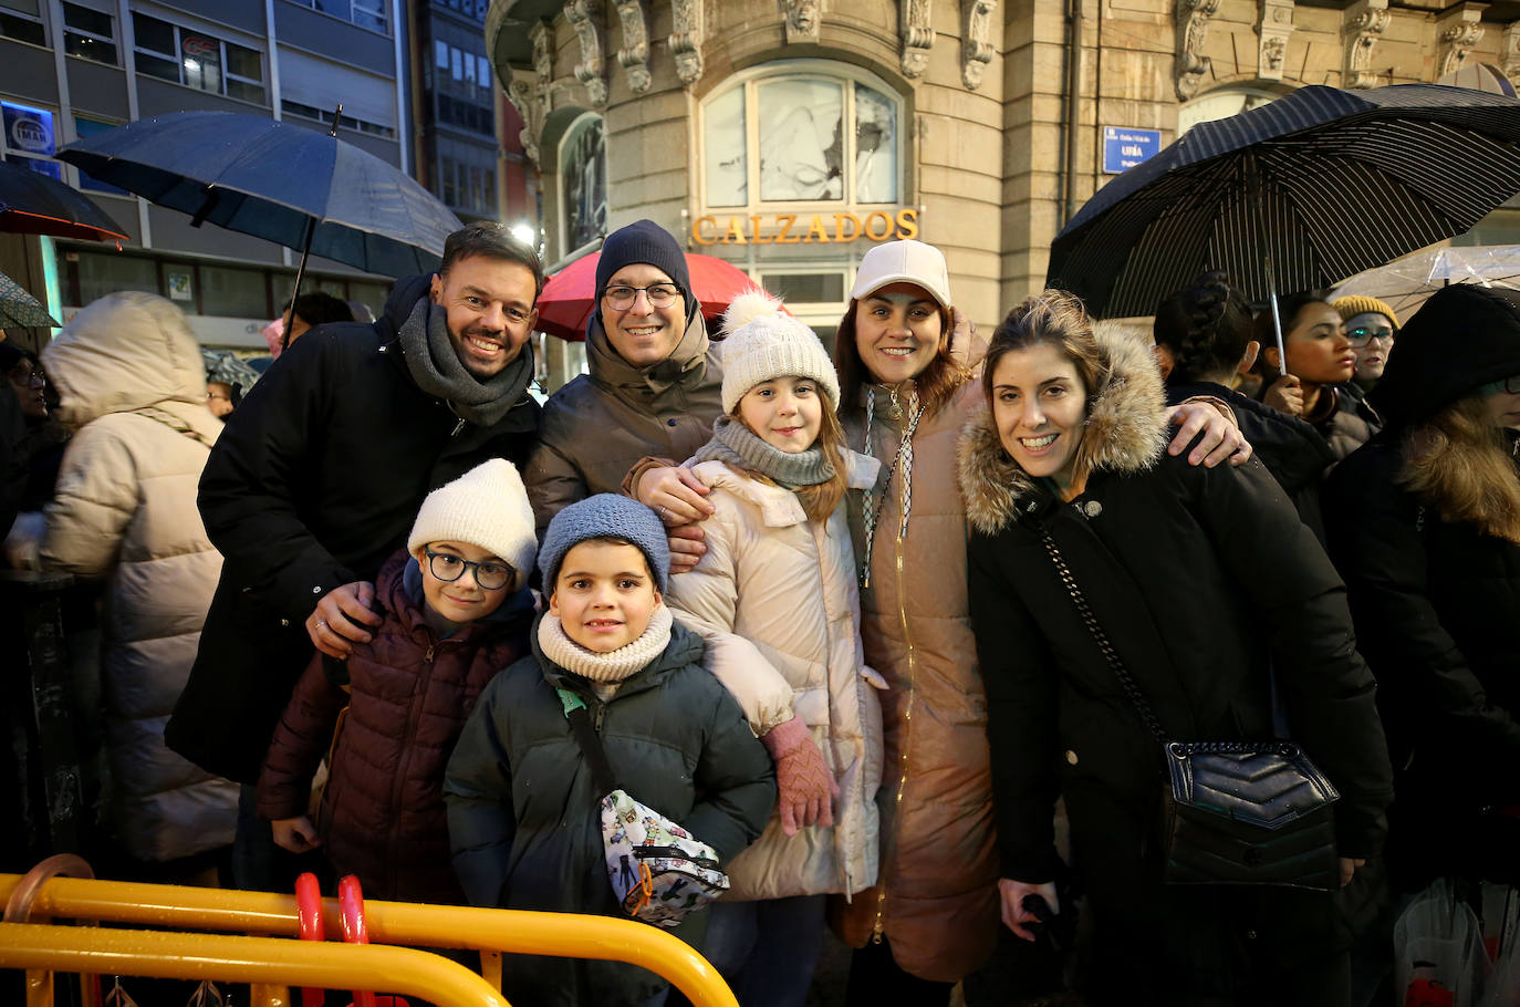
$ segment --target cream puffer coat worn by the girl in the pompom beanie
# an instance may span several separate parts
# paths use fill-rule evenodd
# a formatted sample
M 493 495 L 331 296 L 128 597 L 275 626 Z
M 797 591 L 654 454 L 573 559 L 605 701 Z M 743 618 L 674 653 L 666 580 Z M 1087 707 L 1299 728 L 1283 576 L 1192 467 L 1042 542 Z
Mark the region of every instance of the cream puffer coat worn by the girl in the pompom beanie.
M 877 462 L 851 458 L 851 485 L 869 485 Z M 860 648 L 850 528 L 841 505 L 810 522 L 796 494 L 719 461 L 693 467 L 713 493 L 702 523 L 707 552 L 670 578 L 676 619 L 707 640 L 704 663 L 763 735 L 795 713 L 839 783 L 834 826 L 787 837 L 780 812 L 727 867 L 728 899 L 853 896 L 876 882 L 882 783 L 882 704 Z

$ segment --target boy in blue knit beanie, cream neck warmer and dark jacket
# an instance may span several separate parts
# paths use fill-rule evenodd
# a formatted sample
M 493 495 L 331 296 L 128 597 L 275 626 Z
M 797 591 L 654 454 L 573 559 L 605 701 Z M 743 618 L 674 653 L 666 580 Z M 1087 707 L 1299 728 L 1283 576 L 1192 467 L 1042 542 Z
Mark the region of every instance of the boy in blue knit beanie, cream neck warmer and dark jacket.
M 771 758 L 702 668 L 702 639 L 664 605 L 670 555 L 648 507 L 599 494 L 550 522 L 538 551 L 549 610 L 530 657 L 480 697 L 448 762 L 454 870 L 474 905 L 623 916 L 597 793 L 568 713 L 585 706 L 617 786 L 684 826 L 725 866 L 775 805 Z M 701 948 L 707 914 L 672 932 Z M 512 1002 L 644 1005 L 666 983 L 616 961 L 514 955 Z

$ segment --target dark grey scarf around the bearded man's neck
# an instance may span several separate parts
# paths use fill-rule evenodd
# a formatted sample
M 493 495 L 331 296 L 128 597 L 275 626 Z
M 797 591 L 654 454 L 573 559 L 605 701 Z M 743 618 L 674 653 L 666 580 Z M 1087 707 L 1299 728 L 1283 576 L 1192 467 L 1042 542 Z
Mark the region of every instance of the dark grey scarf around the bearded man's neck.
M 448 338 L 448 312 L 424 294 L 401 326 L 401 356 L 412 380 L 429 395 L 448 403 L 461 420 L 476 426 L 496 426 L 512 406 L 523 402 L 534 380 L 534 345 L 526 344 L 517 359 L 496 376 L 480 380 L 459 362 Z

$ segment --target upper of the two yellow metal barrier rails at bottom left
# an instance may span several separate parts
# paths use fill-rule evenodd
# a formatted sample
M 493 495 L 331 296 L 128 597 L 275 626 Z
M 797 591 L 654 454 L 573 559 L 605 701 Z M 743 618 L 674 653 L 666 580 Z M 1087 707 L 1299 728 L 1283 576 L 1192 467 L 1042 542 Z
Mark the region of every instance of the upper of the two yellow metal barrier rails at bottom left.
M 11 896 L 18 881 L 18 875 L 0 875 L 0 902 Z M 53 878 L 43 885 L 35 907 L 36 913 L 50 917 L 102 923 L 286 937 L 296 934 L 295 896 L 266 891 Z M 328 937 L 340 940 L 336 899 L 324 901 L 324 916 Z M 473 948 L 486 952 L 483 958 L 489 952 L 506 952 L 628 961 L 669 980 L 695 1007 L 739 1007 L 728 984 L 707 958 L 681 939 L 635 920 L 369 901 L 365 902 L 365 916 L 374 942 Z M 0 937 L 0 948 L 5 945 Z M 322 945 L 309 942 L 307 946 Z M 91 966 L 85 970 L 103 969 Z M 278 981 L 304 983 L 289 975 Z

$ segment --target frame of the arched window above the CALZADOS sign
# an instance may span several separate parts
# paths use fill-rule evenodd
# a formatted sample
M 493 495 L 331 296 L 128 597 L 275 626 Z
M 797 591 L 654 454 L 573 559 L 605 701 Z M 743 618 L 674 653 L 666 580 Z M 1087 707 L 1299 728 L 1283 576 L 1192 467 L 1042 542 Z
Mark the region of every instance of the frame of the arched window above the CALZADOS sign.
M 844 108 L 841 110 L 841 135 L 850 137 L 848 145 L 841 152 L 841 163 L 850 166 L 845 172 L 845 184 L 842 187 L 839 199 L 762 199 L 760 198 L 760 116 L 758 116 L 758 90 L 760 85 L 768 81 L 780 79 L 822 79 L 831 84 L 838 84 L 844 91 Z M 886 100 L 892 102 L 895 117 L 897 117 L 897 158 L 895 158 L 895 186 L 897 195 L 886 202 L 860 202 L 856 198 L 856 96 L 854 87 L 862 84 Z M 708 105 L 728 96 L 734 90 L 743 90 L 743 116 L 745 116 L 745 202 L 734 205 L 713 205 L 708 202 L 707 193 L 707 110 Z M 907 199 L 907 164 L 910 146 L 907 143 L 907 99 L 894 88 L 888 81 L 879 78 L 868 70 L 854 67 L 851 64 L 841 64 L 827 59 L 778 59 L 751 67 L 736 73 L 733 78 L 724 82 L 724 87 L 714 88 L 708 94 L 702 96 L 698 103 L 698 114 L 693 117 L 693 129 L 696 135 L 693 137 L 692 151 L 695 152 L 692 176 L 696 178 L 696 202 L 701 207 L 699 216 L 746 216 L 746 214 L 766 214 L 774 213 L 777 208 L 792 210 L 798 213 L 841 213 L 841 211 L 856 211 L 862 207 L 869 207 L 872 210 L 880 210 L 882 207 L 901 207 L 909 205 Z

